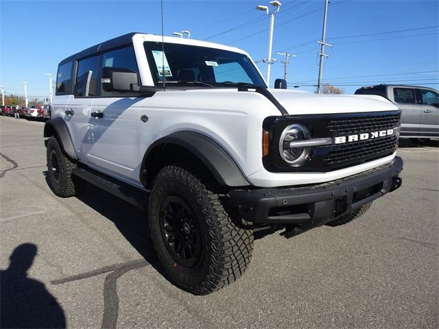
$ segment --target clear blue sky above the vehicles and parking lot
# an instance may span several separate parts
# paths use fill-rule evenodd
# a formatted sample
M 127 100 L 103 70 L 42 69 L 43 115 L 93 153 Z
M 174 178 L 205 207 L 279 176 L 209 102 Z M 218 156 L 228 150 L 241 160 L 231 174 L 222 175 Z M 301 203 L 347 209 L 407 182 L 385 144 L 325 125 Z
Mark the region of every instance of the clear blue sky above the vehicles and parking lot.
M 164 33 L 244 49 L 256 61 L 268 56 L 269 18 L 261 1 L 163 0 Z M 317 40 L 324 0 L 284 0 L 274 19 L 271 84 L 290 59 L 289 88 L 313 91 L 318 78 Z M 49 95 L 45 73 L 73 53 L 128 32 L 161 34 L 160 1 L 0 0 L 0 86 L 32 97 Z M 331 0 L 323 82 L 354 93 L 380 83 L 439 87 L 439 1 Z M 267 65 L 258 64 L 265 76 Z

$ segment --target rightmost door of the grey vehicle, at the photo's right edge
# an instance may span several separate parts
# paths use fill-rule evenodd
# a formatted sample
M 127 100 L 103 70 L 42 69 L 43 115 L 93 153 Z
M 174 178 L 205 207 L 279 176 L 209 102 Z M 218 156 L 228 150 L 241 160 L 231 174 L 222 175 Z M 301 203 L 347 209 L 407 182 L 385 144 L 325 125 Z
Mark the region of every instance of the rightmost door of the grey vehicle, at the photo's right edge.
M 419 99 L 421 119 L 420 134 L 423 136 L 439 136 L 439 95 L 431 89 L 416 89 L 416 97 Z

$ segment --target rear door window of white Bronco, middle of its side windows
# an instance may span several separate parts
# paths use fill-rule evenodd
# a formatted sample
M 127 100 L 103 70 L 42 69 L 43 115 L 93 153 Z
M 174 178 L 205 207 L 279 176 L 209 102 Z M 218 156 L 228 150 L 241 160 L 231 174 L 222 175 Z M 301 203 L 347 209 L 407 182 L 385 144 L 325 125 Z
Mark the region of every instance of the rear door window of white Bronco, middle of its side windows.
M 84 58 L 78 62 L 76 93 L 78 97 L 96 96 L 97 62 L 99 56 Z

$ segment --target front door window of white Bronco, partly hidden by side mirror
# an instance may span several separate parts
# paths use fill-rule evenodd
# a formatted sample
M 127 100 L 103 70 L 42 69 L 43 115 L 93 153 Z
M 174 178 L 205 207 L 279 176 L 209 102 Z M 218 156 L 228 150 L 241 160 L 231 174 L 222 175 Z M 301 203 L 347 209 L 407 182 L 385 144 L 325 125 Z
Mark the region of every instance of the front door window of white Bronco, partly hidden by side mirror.
M 115 69 L 128 69 L 139 75 L 136 55 L 132 46 L 119 48 L 104 53 L 102 55 L 102 69 L 104 69 L 105 67 L 112 67 Z M 101 89 L 101 96 L 112 95 L 123 95 L 123 93 L 118 93 L 117 91 L 106 91 L 104 90 L 104 88 Z

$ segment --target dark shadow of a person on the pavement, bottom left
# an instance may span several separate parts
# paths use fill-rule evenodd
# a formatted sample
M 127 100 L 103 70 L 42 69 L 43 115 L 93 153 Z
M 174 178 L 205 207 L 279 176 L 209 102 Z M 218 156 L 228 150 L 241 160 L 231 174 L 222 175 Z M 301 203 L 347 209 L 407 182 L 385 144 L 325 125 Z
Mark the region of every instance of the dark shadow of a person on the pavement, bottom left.
M 0 328 L 66 328 L 64 311 L 45 284 L 27 276 L 37 254 L 33 243 L 14 249 L 0 271 Z

